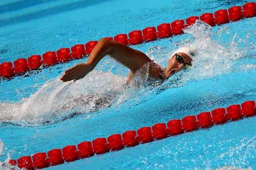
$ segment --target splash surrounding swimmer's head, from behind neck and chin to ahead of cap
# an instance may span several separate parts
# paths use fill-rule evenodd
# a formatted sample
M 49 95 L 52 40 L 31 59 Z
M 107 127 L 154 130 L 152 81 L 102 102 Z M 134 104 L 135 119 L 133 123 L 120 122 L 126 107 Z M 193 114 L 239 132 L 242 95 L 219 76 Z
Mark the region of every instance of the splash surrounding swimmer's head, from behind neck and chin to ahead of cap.
M 193 26 L 183 31 L 190 37 L 178 42 L 173 42 L 172 39 L 170 41 L 172 42 L 172 46 L 188 46 L 197 49 L 197 55 L 193 58 L 193 66 L 188 70 L 177 72 L 157 90 L 162 91 L 167 88 L 184 86 L 191 81 L 212 79 L 229 74 L 229 72 L 233 71 L 234 64 L 247 54 L 247 49 L 244 45 L 241 48 L 239 46 L 241 43 L 246 43 L 246 38 L 248 37 L 242 40 L 237 34 L 231 36 L 228 28 L 220 28 L 216 32 L 213 32 L 211 26 L 197 20 Z M 220 37 L 220 42 L 216 40 L 216 37 Z M 222 42 L 223 39 L 228 39 L 228 42 L 226 42 L 227 40 Z M 166 61 L 168 61 L 176 50 L 171 50 L 169 47 L 155 46 L 150 48 L 148 54 L 152 55 L 156 62 L 166 65 Z M 158 55 L 161 57 L 159 58 Z M 254 65 L 241 67 L 250 69 Z

